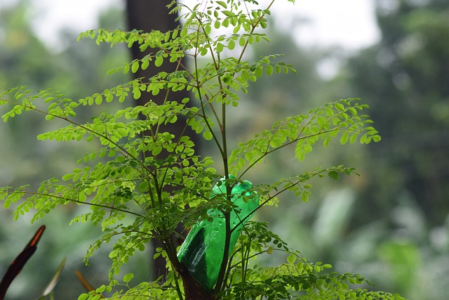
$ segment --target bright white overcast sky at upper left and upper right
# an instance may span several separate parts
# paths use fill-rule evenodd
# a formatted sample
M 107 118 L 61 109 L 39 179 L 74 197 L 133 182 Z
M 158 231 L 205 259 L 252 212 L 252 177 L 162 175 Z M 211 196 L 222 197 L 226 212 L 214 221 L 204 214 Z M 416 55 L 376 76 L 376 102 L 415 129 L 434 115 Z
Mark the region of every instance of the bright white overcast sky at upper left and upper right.
M 2 0 L 12 2 L 15 0 Z M 192 1 L 192 0 L 187 0 Z M 39 36 L 55 43 L 58 27 L 72 27 L 83 32 L 98 27 L 96 16 L 108 6 L 123 6 L 123 0 L 33 0 L 39 22 Z M 267 0 L 260 0 L 260 4 Z M 379 39 L 375 25 L 373 0 L 278 0 L 274 4 L 276 23 L 292 30 L 296 41 L 303 46 L 337 45 L 350 51 L 363 48 Z M 294 26 L 294 17 L 310 22 Z

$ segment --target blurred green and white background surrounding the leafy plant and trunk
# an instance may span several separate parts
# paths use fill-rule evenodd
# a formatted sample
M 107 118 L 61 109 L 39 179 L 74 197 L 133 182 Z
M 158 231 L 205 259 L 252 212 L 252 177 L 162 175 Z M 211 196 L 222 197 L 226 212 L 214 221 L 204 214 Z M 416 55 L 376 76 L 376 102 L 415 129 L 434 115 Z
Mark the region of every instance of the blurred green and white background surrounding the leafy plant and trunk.
M 119 0 L 89 2 L 1 1 L 0 90 L 53 87 L 77 99 L 127 81 L 125 74 L 106 72 L 130 59 L 128 48 L 76 42 L 83 30 L 124 28 L 125 6 Z M 337 164 L 356 167 L 361 176 L 316 180 L 308 203 L 286 194 L 279 207 L 262 209 L 255 218 L 269 221 L 311 261 L 360 273 L 376 288 L 409 299 L 445 299 L 449 292 L 448 15 L 445 0 L 302 0 L 295 6 L 279 0 L 267 31 L 271 43 L 254 45 L 250 53 L 255 58 L 285 53 L 283 61 L 295 65 L 298 74 L 259 79 L 232 112 L 230 136 L 238 143 L 276 119 L 331 100 L 362 98 L 370 105 L 380 143 L 335 141 L 316 147 L 301 163 L 290 149 L 291 155 L 274 155 L 248 179 L 270 183 Z M 100 113 L 95 109 L 81 119 Z M 0 124 L 1 186 L 37 186 L 60 177 L 95 147 L 36 140 L 58 125 L 34 113 Z M 86 224 L 68 225 L 79 209 L 60 208 L 32 226 L 30 216 L 13 221 L 13 209 L 0 209 L 1 275 L 34 230 L 47 226 L 8 299 L 37 296 L 65 256 L 55 299 L 76 299 L 83 292 L 76 269 L 93 285 L 107 282 L 107 247 L 91 267 L 83 266 L 86 248 L 100 232 Z M 279 262 L 270 259 L 266 263 Z M 131 263 L 137 280 L 152 276 L 148 268 L 135 269 L 151 263 L 147 252 Z

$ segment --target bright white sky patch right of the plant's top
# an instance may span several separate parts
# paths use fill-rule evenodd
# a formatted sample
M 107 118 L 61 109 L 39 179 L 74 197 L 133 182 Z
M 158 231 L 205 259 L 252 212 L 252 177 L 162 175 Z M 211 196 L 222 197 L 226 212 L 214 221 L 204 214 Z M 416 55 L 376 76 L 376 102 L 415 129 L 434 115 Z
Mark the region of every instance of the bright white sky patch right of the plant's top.
M 274 16 L 283 30 L 293 31 L 301 46 L 354 51 L 380 40 L 373 0 L 296 0 L 295 4 L 284 0 L 274 5 Z

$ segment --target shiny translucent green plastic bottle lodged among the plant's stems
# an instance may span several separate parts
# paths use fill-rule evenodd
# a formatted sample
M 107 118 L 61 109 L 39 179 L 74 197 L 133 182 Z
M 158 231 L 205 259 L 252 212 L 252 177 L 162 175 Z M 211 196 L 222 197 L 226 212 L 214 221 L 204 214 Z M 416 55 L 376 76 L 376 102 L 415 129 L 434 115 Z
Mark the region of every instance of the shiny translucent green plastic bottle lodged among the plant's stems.
M 230 175 L 229 178 L 235 177 Z M 215 185 L 212 192 L 225 197 L 225 178 L 220 181 L 221 183 Z M 229 216 L 233 231 L 229 241 L 228 255 L 234 249 L 243 225 L 252 216 L 251 212 L 259 205 L 259 195 L 251 191 L 251 188 L 253 188 L 253 184 L 249 181 L 236 183 L 232 188 L 232 202 L 236 204 L 238 210 L 234 209 Z M 225 252 L 226 226 L 225 216 L 218 209 L 209 209 L 208 215 L 213 218 L 213 221 L 203 220 L 196 223 L 187 235 L 185 242 L 182 243 L 177 257 L 196 281 L 210 291 L 217 283 Z M 241 222 L 241 220 L 243 221 Z

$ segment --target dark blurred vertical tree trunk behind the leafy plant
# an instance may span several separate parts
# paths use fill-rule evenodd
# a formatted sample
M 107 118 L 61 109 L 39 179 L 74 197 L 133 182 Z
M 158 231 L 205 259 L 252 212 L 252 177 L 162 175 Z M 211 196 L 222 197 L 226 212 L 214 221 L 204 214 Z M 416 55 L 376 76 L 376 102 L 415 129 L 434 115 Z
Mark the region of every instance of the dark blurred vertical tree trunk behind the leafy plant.
M 128 30 L 143 30 L 144 32 L 151 32 L 152 30 L 159 30 L 161 32 L 167 32 L 174 30 L 179 24 L 175 20 L 176 14 L 169 14 L 170 9 L 167 8 L 167 4 L 170 1 L 163 0 L 127 0 L 126 12 L 128 17 Z M 142 59 L 149 53 L 156 53 L 159 49 L 147 48 L 146 51 L 141 52 L 138 44 L 134 44 L 131 47 L 131 52 L 134 59 Z M 185 65 L 185 62 L 183 62 Z M 135 78 L 145 77 L 149 79 L 159 72 L 174 72 L 176 70 L 177 63 L 170 63 L 168 60 L 164 60 L 161 67 L 154 67 L 150 64 L 146 70 L 139 69 L 133 76 Z M 165 93 L 159 93 L 157 96 L 152 96 L 151 93 L 142 92 L 142 96 L 137 100 L 137 105 L 144 105 L 149 100 L 154 103 L 161 104 L 165 98 Z M 169 100 L 182 100 L 182 98 L 189 97 L 187 91 L 170 91 Z M 173 133 L 176 137 L 179 137 L 182 130 L 185 127 L 185 120 L 179 118 L 175 124 L 168 124 L 163 128 L 163 131 Z M 192 131 L 185 131 L 185 135 L 189 136 L 196 144 L 195 133 Z M 160 242 L 152 242 L 153 251 L 156 247 L 162 247 Z M 159 277 L 159 275 L 166 275 L 166 261 L 162 256 L 154 261 L 153 278 Z

